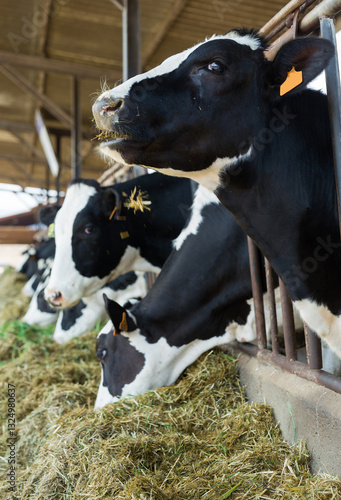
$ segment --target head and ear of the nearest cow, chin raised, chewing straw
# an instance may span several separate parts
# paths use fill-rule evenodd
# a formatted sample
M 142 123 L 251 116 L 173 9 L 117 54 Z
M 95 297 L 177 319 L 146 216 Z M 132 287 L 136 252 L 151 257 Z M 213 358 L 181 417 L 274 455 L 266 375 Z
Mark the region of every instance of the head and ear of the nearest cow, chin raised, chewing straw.
M 231 31 L 104 92 L 93 106 L 105 132 L 102 152 L 214 189 L 222 167 L 251 154 L 253 138 L 286 98 L 280 87 L 292 67 L 302 72 L 301 89 L 333 54 L 332 44 L 317 38 L 289 42 L 272 62 L 264 49 L 256 33 Z

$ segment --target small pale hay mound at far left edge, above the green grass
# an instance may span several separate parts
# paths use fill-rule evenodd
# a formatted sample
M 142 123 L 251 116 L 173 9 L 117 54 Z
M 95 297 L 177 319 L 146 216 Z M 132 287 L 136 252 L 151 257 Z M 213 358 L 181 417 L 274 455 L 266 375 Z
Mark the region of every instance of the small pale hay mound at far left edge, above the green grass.
M 6 267 L 0 274 L 0 325 L 26 313 L 31 300 L 21 293 L 26 281 L 26 276 L 13 267 Z

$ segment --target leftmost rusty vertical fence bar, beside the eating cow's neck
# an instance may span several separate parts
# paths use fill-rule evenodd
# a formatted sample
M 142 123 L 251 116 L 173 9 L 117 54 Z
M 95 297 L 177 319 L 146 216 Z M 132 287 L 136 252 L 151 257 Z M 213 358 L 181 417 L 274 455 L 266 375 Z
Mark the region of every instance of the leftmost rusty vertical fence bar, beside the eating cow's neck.
M 247 245 L 250 257 L 250 274 L 253 303 L 255 308 L 258 349 L 266 349 L 266 330 L 259 250 L 249 236 L 247 237 Z

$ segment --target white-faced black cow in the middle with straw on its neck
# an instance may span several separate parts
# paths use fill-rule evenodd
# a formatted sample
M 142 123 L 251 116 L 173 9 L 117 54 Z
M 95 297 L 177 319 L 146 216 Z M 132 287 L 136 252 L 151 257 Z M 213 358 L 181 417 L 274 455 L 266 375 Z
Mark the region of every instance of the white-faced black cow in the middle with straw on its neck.
M 70 307 L 128 271 L 160 271 L 191 203 L 187 179 L 152 174 L 105 188 L 73 181 L 55 219 L 46 299 Z

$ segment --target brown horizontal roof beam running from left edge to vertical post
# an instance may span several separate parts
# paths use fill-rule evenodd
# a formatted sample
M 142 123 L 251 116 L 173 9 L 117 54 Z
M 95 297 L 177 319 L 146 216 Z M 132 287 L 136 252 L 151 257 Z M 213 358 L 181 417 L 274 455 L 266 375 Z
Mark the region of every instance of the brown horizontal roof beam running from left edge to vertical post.
M 41 56 L 31 56 L 29 54 L 13 54 L 6 50 L 0 50 L 0 63 L 21 66 L 23 68 L 36 69 L 52 73 L 62 73 L 79 78 L 94 78 L 96 80 L 106 76 L 118 80 L 122 74 L 108 68 L 98 68 L 97 66 L 87 66 L 68 61 L 58 61 Z

